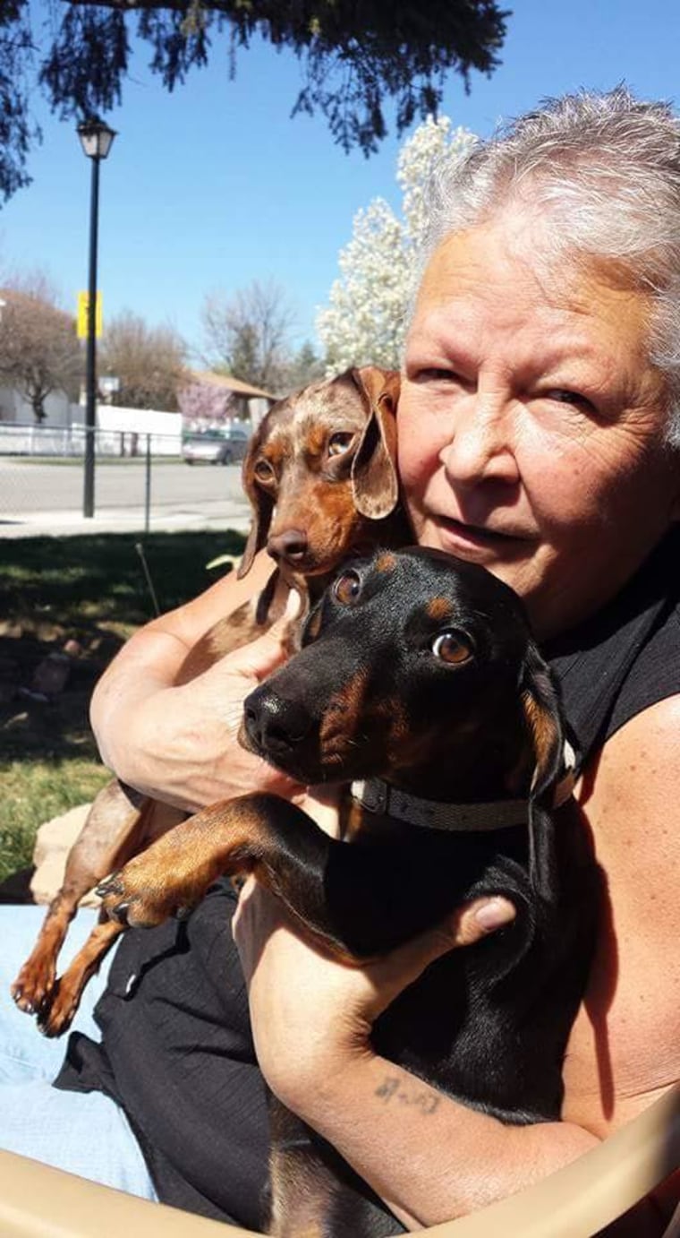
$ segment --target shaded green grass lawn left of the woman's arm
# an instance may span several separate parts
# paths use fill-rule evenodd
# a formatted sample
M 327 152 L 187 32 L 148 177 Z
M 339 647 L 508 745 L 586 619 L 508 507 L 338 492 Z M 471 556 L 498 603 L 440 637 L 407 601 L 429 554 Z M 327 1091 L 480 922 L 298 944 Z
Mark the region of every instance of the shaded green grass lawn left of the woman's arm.
M 94 683 L 122 641 L 153 617 L 136 543 L 168 610 L 206 588 L 239 555 L 241 534 L 30 537 L 0 547 L 0 883 L 31 863 L 43 821 L 90 800 L 108 780 L 88 724 Z M 47 654 L 75 641 L 66 687 L 31 691 Z

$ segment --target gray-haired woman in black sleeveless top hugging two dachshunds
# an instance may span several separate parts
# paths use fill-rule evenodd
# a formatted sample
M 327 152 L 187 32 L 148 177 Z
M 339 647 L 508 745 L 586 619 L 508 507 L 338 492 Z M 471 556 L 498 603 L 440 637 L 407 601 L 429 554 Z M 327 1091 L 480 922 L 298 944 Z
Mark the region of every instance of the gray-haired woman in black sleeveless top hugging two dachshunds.
M 370 1035 L 433 958 L 511 907 L 464 909 L 350 971 L 270 895 L 242 896 L 260 1070 L 408 1229 L 549 1174 L 680 1077 L 680 124 L 624 90 L 565 98 L 445 171 L 435 199 L 398 410 L 404 500 L 422 545 L 481 563 L 527 604 L 579 742 L 575 794 L 607 907 L 563 1119 L 504 1127 L 443 1096 L 396 1115 Z M 104 676 L 94 725 L 127 782 L 190 807 L 299 791 L 234 740 L 244 696 L 283 657 L 276 631 L 171 686 L 252 583 L 226 579 L 156 620 Z M 257 1226 L 265 1115 L 227 900 L 214 891 L 188 930 L 126 935 L 99 1008 L 104 1044 L 72 1037 L 61 1086 L 122 1106 L 162 1198 Z M 635 1232 L 653 1234 L 654 1216 L 643 1207 Z

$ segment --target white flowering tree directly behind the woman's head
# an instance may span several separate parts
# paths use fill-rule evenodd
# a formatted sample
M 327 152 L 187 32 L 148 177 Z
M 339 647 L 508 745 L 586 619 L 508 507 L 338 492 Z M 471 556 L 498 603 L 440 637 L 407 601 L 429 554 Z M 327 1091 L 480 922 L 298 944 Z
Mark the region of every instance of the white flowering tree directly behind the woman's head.
M 399 151 L 401 215 L 383 198 L 373 198 L 355 215 L 352 238 L 338 260 L 340 277 L 330 290 L 328 308 L 317 317 L 329 375 L 350 365 L 398 369 L 415 255 L 425 229 L 427 183 L 441 160 L 462 158 L 475 141 L 470 130 L 454 129 L 448 116 L 429 116 Z

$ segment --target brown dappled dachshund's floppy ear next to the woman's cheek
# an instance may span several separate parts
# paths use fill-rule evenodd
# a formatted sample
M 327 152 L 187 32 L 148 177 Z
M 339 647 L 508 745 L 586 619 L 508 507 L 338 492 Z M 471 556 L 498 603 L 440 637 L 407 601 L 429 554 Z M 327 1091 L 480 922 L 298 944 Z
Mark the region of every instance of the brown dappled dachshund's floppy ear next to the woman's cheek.
M 361 392 L 367 420 L 352 461 L 351 484 L 354 505 L 370 520 L 383 520 L 397 506 L 397 401 L 398 370 L 381 370 L 365 365 L 351 370 Z

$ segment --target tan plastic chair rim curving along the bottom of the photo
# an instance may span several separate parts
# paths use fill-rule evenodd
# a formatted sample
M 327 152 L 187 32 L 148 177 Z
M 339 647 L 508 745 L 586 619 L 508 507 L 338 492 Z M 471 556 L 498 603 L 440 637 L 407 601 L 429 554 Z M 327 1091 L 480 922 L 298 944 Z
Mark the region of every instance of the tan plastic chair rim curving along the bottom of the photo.
M 0 1119 L 1 1120 L 1 1119 Z M 420 1231 L 429 1238 L 590 1238 L 680 1165 L 680 1087 L 598 1148 L 481 1212 Z M 177 1208 L 0 1151 L 2 1238 L 252 1238 Z

